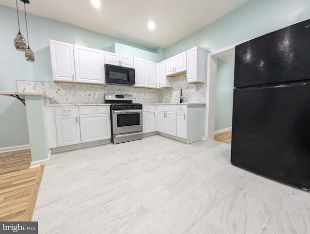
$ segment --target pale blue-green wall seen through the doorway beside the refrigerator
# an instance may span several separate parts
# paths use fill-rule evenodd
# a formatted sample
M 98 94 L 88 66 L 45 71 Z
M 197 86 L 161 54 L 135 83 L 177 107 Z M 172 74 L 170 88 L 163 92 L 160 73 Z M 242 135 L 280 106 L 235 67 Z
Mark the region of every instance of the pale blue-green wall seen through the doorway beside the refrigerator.
M 232 127 L 234 65 L 217 59 L 215 131 Z

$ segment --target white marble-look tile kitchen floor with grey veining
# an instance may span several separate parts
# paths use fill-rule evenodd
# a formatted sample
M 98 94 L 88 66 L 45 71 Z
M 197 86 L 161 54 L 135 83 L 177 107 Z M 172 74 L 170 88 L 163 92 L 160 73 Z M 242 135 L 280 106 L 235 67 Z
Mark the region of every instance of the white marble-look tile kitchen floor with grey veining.
M 52 154 L 39 234 L 306 234 L 310 193 L 230 164 L 231 145 L 159 135 Z

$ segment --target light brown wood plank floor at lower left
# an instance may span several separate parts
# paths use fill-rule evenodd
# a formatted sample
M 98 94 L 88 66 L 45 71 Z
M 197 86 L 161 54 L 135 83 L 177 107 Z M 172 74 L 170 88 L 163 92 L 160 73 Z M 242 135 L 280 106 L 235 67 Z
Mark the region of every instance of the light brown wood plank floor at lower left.
M 0 153 L 0 221 L 31 221 L 44 166 L 30 163 L 30 150 Z

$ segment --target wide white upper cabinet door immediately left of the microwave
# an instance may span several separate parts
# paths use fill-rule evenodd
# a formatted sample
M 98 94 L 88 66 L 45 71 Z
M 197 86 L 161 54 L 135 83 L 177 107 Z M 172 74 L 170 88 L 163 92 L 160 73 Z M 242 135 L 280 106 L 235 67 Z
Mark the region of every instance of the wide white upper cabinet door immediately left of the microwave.
M 104 84 L 104 52 L 82 46 L 73 46 L 76 82 Z

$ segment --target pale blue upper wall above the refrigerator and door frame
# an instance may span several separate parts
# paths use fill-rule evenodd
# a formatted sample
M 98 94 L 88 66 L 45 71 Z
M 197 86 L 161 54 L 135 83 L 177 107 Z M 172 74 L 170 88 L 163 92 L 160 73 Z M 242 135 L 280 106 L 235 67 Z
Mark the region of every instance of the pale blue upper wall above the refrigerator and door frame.
M 165 58 L 201 46 L 210 51 L 310 18 L 310 0 L 250 0 L 165 49 Z

